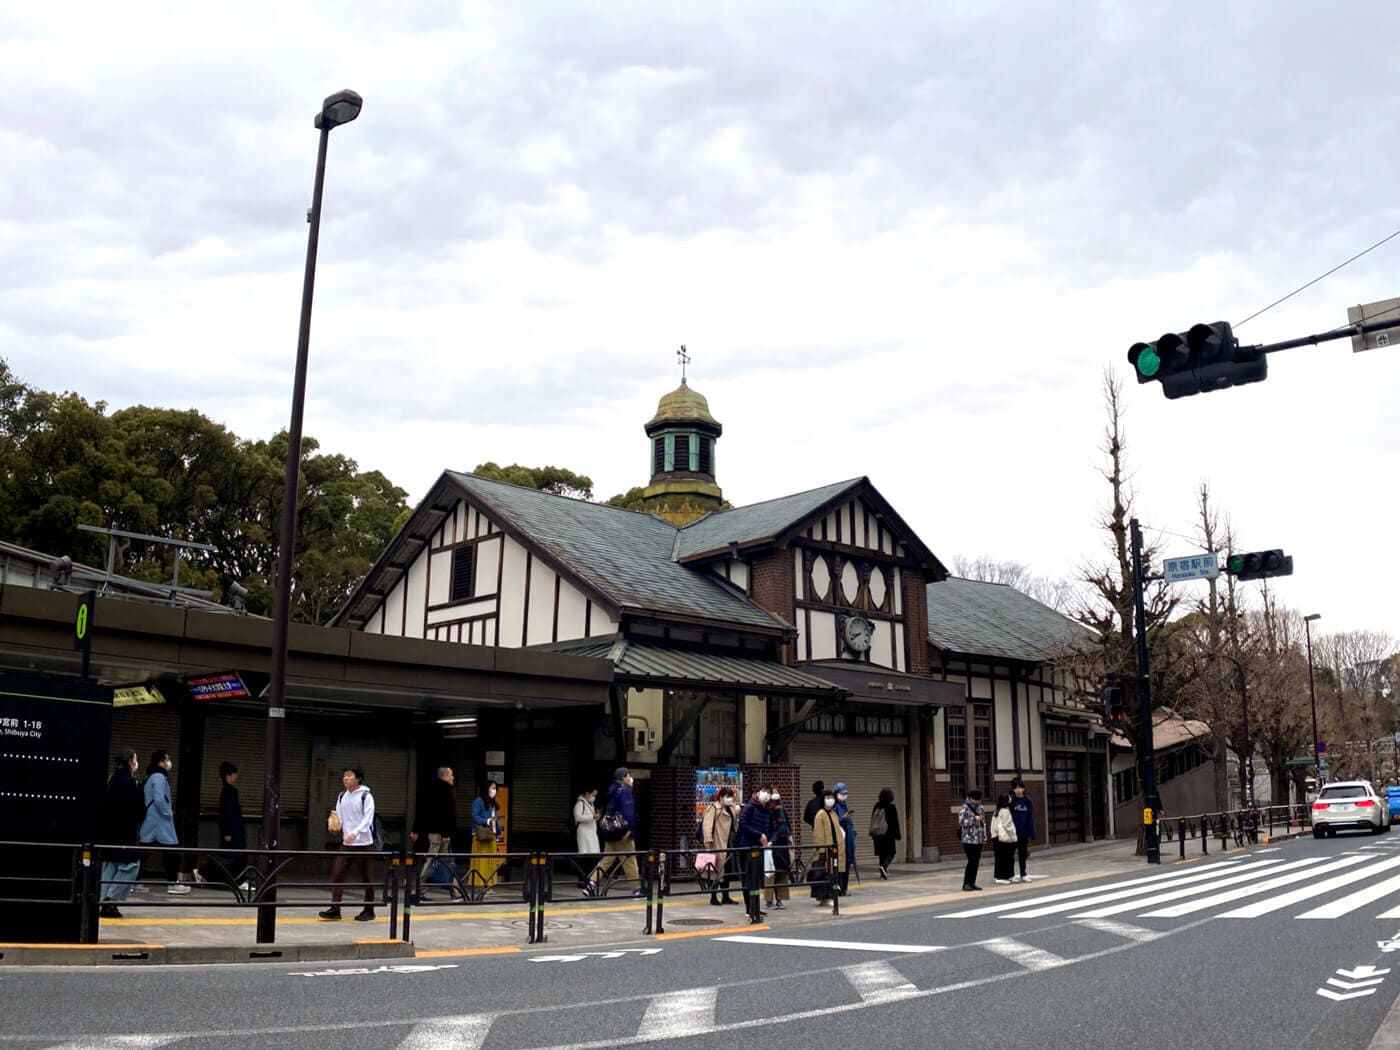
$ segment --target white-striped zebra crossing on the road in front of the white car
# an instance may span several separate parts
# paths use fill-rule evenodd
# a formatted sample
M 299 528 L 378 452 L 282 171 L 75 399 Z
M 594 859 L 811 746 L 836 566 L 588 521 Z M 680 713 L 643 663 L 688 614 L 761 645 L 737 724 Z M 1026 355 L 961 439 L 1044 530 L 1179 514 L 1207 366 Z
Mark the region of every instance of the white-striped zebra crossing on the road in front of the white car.
M 1044 896 L 1001 897 L 938 918 L 1063 916 L 1105 932 L 1152 937 L 1151 931 L 1116 923 L 1113 917 L 1340 918 L 1375 907 L 1378 902 L 1376 918 L 1400 918 L 1400 843 L 1296 860 L 1287 855 L 1219 860 L 1204 868 L 1117 879 Z

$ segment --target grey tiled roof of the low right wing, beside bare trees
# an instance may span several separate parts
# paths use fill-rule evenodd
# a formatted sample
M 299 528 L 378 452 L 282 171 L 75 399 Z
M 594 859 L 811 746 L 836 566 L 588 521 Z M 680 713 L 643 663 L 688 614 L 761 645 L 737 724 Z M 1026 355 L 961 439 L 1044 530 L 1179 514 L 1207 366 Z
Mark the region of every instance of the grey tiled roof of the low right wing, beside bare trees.
M 1088 627 L 1007 584 L 949 577 L 928 585 L 928 641 L 945 652 L 1044 664 Z

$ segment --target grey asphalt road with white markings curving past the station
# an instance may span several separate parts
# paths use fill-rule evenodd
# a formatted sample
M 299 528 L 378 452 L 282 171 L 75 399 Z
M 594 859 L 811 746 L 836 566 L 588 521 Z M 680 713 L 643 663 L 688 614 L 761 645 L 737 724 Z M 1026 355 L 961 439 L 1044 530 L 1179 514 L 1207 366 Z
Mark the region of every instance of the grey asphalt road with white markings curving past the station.
M 0 1047 L 1365 1047 L 1400 994 L 1400 834 L 774 925 L 596 955 L 17 969 Z

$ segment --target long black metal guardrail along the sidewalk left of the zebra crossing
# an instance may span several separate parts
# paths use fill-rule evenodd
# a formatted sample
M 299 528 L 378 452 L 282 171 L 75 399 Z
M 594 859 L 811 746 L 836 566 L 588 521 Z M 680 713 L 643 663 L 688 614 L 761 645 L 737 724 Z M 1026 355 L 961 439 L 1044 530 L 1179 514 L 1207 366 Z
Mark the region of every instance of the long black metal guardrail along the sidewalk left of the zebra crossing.
M 388 909 L 391 939 L 400 939 L 402 930 L 402 939 L 407 941 L 416 911 L 522 900 L 529 910 L 528 941 L 532 945 L 549 939 L 549 909 L 596 904 L 619 892 L 645 902 L 641 930 L 645 935 L 665 932 L 668 900 L 728 895 L 735 883 L 750 923 L 762 920 L 766 903 L 785 906 L 794 886 L 805 886 L 819 903 L 830 902 L 832 914 L 839 916 L 844 881 L 834 847 L 804 848 L 806 854 L 792 846 L 707 850 L 701 851 L 704 862 L 699 865 L 690 853 L 661 850 L 413 854 L 371 848 L 370 860 L 382 864 L 382 872 L 370 883 L 374 888 L 370 904 Z M 344 850 L 193 850 L 34 841 L 0 841 L 0 850 L 18 850 L 35 861 L 42 851 L 57 854 L 48 865 L 32 868 L 46 868 L 49 874 L 0 872 L 0 903 L 77 906 L 81 909 L 80 942 L 84 944 L 91 941 L 92 918 L 105 904 L 143 910 L 270 909 L 274 918 L 286 910 L 325 910 L 339 903 L 333 900 L 336 883 L 330 878 L 307 878 L 307 872 L 315 868 L 329 872 L 335 861 L 346 855 Z M 178 885 L 224 890 L 227 897 L 209 899 L 202 893 L 192 902 L 183 892 L 167 893 L 171 883 L 164 879 L 140 879 L 139 869 L 118 867 L 168 854 L 207 857 L 210 864 L 202 868 L 206 874 L 199 882 Z M 678 857 L 689 867 L 680 867 Z M 105 874 L 104 864 L 109 865 Z M 564 878 L 556 881 L 556 874 Z M 363 885 L 343 881 L 343 895 L 353 897 Z M 132 899 L 132 893 L 137 899 Z M 276 941 L 276 923 L 272 941 Z

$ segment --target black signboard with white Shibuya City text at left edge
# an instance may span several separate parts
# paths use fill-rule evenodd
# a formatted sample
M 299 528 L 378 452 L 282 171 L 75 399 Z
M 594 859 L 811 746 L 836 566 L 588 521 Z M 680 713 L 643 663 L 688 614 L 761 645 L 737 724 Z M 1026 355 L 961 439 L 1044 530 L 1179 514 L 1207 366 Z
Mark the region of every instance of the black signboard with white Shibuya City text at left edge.
M 0 840 L 91 843 L 112 756 L 112 689 L 76 679 L 0 672 Z M 6 941 L 76 942 L 67 848 L 0 847 L 0 931 Z

